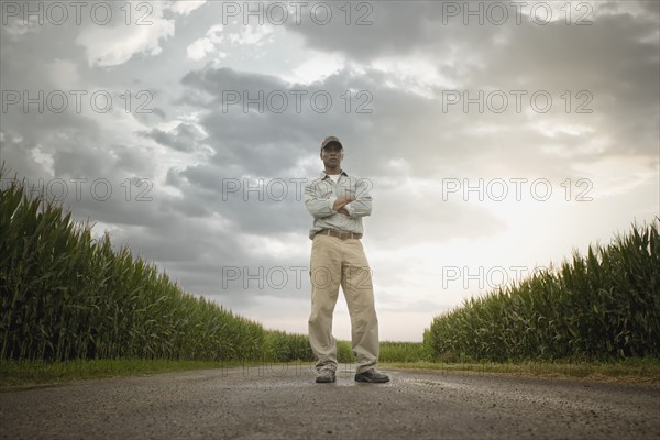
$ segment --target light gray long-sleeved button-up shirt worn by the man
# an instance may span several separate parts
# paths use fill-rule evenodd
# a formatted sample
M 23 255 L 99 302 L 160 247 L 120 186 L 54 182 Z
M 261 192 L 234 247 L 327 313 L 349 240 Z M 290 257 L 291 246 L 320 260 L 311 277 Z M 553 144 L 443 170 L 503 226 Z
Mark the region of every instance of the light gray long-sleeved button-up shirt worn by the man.
M 321 172 L 318 178 L 305 185 L 305 206 L 314 217 L 309 238 L 314 239 L 322 229 L 363 233 L 362 218 L 371 215 L 372 209 L 371 188 L 369 179 L 349 176 L 343 170 L 337 183 Z M 355 200 L 344 206 L 349 216 L 332 209 L 338 198 L 349 195 L 355 197 Z

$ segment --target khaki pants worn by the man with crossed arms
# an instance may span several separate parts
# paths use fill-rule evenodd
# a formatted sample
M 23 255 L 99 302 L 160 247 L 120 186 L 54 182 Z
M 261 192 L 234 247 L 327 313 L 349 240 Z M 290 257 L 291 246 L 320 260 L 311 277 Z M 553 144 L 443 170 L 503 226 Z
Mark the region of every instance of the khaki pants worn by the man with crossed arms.
M 310 277 L 309 344 L 317 356 L 317 371 L 337 371 L 332 315 L 340 285 L 351 316 L 352 350 L 356 358 L 358 373 L 374 367 L 378 360 L 378 319 L 374 308 L 371 271 L 362 242 L 356 239 L 315 235 Z

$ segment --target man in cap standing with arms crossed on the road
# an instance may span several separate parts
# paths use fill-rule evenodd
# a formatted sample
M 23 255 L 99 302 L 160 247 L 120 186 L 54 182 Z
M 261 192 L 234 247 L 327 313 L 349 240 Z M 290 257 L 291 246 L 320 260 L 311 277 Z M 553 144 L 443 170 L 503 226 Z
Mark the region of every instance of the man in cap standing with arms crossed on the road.
M 369 262 L 362 248 L 362 218 L 371 215 L 369 182 L 349 176 L 341 168 L 343 145 L 336 136 L 321 143 L 326 169 L 305 186 L 305 206 L 314 217 L 311 245 L 311 314 L 309 344 L 317 358 L 317 383 L 332 383 L 337 372 L 337 342 L 332 314 L 344 293 L 351 315 L 352 350 L 356 358 L 356 382 L 385 383 L 389 377 L 376 370 L 378 319 Z

